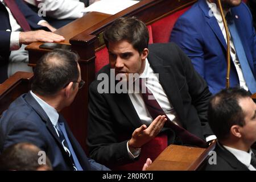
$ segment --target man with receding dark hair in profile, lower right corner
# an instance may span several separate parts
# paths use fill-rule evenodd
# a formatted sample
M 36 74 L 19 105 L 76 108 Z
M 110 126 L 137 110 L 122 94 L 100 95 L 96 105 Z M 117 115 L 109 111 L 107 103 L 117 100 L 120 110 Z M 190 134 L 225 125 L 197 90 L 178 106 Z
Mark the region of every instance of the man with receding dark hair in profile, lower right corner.
M 211 98 L 208 121 L 218 139 L 205 170 L 256 170 L 256 104 L 240 88 L 224 89 Z

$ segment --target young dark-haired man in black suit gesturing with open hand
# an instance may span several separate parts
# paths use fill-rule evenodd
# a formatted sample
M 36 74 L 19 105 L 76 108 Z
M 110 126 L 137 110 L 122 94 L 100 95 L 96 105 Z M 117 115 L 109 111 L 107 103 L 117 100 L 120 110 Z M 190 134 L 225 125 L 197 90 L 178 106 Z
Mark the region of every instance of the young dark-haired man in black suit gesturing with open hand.
M 158 150 L 150 146 L 150 151 L 143 151 L 143 146 L 162 134 L 167 134 L 169 144 L 187 144 L 165 123 L 204 141 L 212 134 L 207 122 L 208 86 L 179 47 L 173 43 L 148 46 L 147 28 L 135 18 L 118 19 L 105 31 L 104 39 L 109 65 L 101 69 L 89 88 L 88 146 L 93 159 L 108 166 L 134 162 L 140 152 L 150 156 Z M 147 101 L 130 87 L 119 92 L 121 84 L 125 83 L 125 88 L 137 82 L 134 75 L 138 80 L 146 79 L 161 113 L 150 113 Z M 122 81 L 115 85 L 115 77 Z M 159 147 L 164 145 L 167 141 Z M 146 158 L 141 159 L 144 162 Z

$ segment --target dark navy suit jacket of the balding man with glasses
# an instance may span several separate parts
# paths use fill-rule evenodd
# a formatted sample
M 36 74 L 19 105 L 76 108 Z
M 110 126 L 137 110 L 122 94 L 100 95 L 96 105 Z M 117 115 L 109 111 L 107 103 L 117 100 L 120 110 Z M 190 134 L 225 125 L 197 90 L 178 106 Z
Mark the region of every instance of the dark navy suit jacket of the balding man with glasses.
M 65 119 L 61 120 L 64 121 L 68 138 L 81 167 L 84 170 L 108 170 L 86 157 Z M 54 170 L 73 170 L 71 159 L 64 151 L 51 121 L 30 93 L 18 97 L 0 119 L 0 152 L 19 142 L 33 143 L 45 151 Z

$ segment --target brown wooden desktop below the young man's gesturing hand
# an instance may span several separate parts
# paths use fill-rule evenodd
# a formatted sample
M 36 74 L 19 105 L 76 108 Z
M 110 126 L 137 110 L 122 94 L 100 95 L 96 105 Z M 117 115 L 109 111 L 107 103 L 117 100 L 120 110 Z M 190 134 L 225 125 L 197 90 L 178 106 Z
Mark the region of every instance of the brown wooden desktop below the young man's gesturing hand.
M 214 149 L 215 144 L 212 143 L 208 148 L 171 144 L 155 159 L 147 171 L 195 171 Z

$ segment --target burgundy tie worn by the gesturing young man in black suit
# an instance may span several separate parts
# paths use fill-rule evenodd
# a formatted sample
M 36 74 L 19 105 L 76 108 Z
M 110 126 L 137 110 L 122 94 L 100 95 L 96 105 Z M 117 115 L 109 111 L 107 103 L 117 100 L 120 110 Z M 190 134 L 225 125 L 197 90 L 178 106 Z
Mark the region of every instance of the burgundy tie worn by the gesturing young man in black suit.
M 162 107 L 158 104 L 158 101 L 156 101 L 154 95 L 150 92 L 150 90 L 142 89 L 141 86 L 145 85 L 143 80 L 139 79 L 139 85 L 140 89 L 145 92 L 142 93 L 142 98 L 144 103 L 146 104 L 146 107 L 148 109 L 148 112 L 150 113 L 151 117 L 154 119 L 158 117 L 158 115 L 166 115 L 164 113 Z M 205 142 L 203 139 L 197 137 L 196 135 L 190 133 L 189 131 L 183 129 L 183 127 L 180 127 L 178 125 L 175 125 L 174 122 L 172 122 L 166 115 L 167 121 L 165 123 L 165 127 L 169 127 L 172 130 L 174 130 L 175 134 L 183 141 L 185 144 L 192 144 L 198 147 L 205 148 L 207 146 L 207 142 Z

